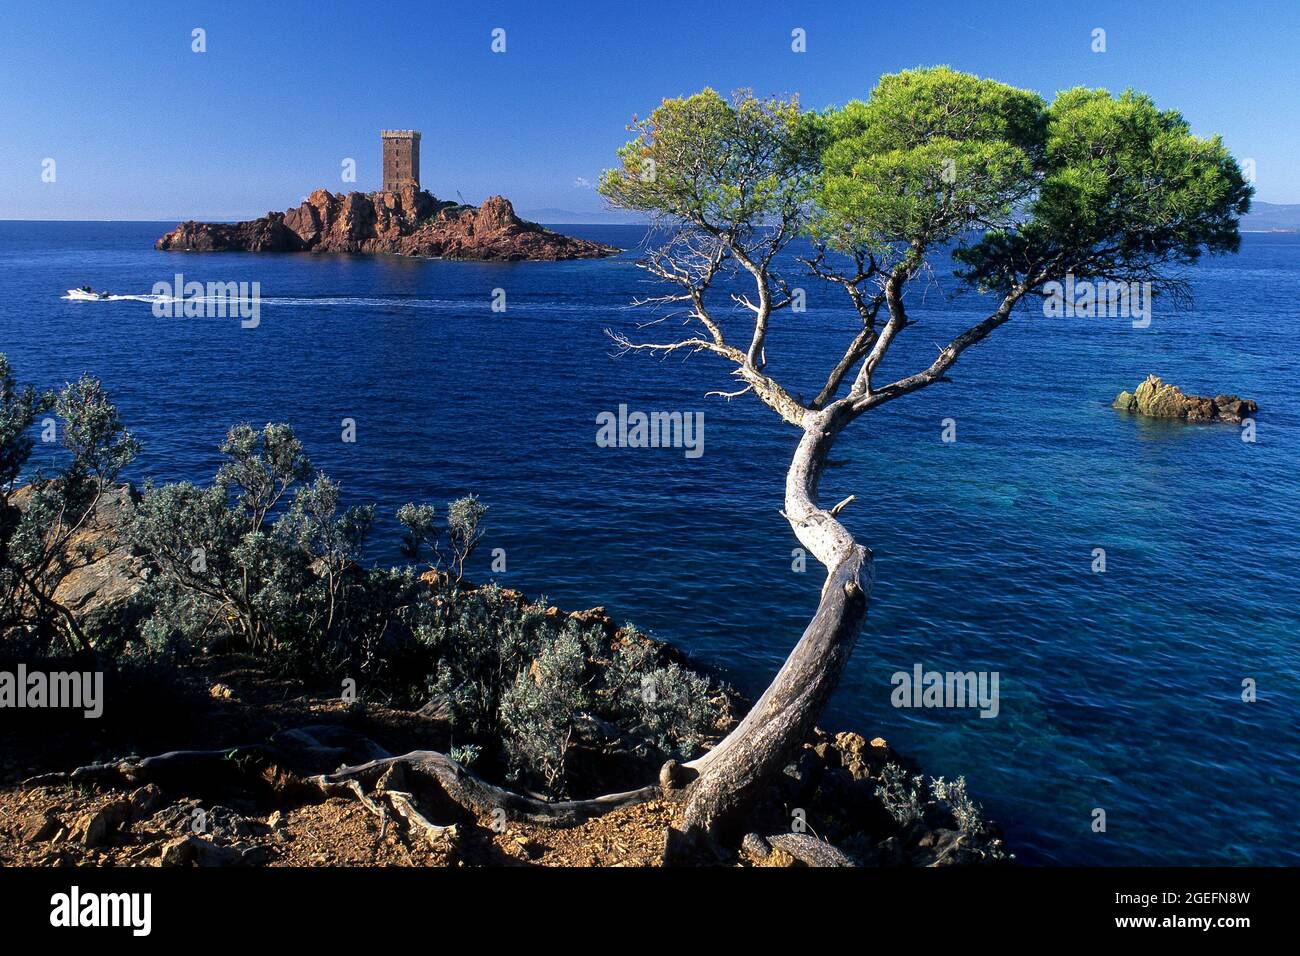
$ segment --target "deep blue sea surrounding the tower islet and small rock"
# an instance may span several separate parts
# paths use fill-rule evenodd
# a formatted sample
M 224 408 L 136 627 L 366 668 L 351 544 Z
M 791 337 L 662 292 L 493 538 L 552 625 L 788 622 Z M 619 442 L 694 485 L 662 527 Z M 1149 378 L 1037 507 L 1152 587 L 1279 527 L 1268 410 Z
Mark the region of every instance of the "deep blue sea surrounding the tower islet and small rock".
M 706 356 L 614 358 L 604 329 L 655 286 L 634 254 L 489 265 L 395 258 L 185 255 L 173 224 L 0 222 L 0 350 L 43 386 L 100 376 L 146 453 L 134 479 L 203 479 L 228 425 L 287 421 L 350 501 L 391 512 L 476 492 L 516 588 L 606 605 L 755 693 L 816 605 L 777 514 L 796 434 Z M 633 247 L 632 226 L 567 226 Z M 261 325 L 77 303 L 73 285 L 144 294 L 174 272 L 259 281 Z M 984 303 L 936 274 L 884 373 L 928 364 Z M 1022 315 L 952 384 L 846 432 L 823 498 L 876 554 L 866 631 L 826 724 L 880 735 L 935 775 L 965 774 L 1019 858 L 1300 864 L 1300 235 L 1247 235 L 1191 271 L 1195 308 L 1121 319 Z M 783 315 L 770 368 L 815 392 L 852 334 L 831 291 Z M 504 289 L 507 311 L 490 308 Z M 741 321 L 736 316 L 736 321 Z M 647 334 L 670 334 L 653 326 Z M 1156 372 L 1258 401 L 1231 425 L 1112 411 Z M 703 411 L 705 454 L 601 449 L 627 403 Z M 341 441 L 356 420 L 358 441 Z M 941 420 L 957 442 L 940 441 Z M 1093 574 L 1092 550 L 1108 570 Z M 894 671 L 988 670 L 1001 713 L 890 706 Z M 1257 682 L 1258 701 L 1240 700 Z M 1092 832 L 1093 808 L 1108 814 Z

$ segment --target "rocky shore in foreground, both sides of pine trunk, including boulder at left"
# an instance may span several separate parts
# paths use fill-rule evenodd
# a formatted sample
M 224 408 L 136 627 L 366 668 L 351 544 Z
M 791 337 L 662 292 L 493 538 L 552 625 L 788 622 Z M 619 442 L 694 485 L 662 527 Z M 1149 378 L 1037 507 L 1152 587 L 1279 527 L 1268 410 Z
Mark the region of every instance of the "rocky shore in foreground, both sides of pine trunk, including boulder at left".
M 16 506 L 25 501 L 20 492 Z M 135 501 L 129 485 L 105 493 L 92 520 L 69 542 L 84 564 L 62 584 L 64 597 L 75 600 L 87 620 L 110 622 L 124 632 L 136 626 L 133 598 L 151 576 L 121 535 Z M 421 580 L 434 594 L 448 593 L 442 572 Z M 567 613 L 517 591 L 495 593 L 500 602 L 538 613 L 542 622 L 602 635 L 601 646 L 640 643 L 638 657 L 705 674 L 672 645 L 620 627 L 603 607 Z M 592 663 L 611 667 L 616 657 Z M 22 711 L 26 726 L 0 732 L 0 865 L 659 865 L 666 827 L 684 793 L 676 783 L 663 783 L 666 765 L 656 795 L 644 803 L 573 826 L 534 821 L 503 830 L 490 813 L 456 809 L 426 788 L 422 801 L 446 819 L 438 821 L 437 839 L 425 840 L 417 829 L 385 822 L 382 814 L 377 819 L 367 800 L 316 792 L 309 784 L 315 774 L 378 750 L 452 752 L 464 737 L 437 698 L 416 709 L 382 697 L 342 700 L 337 688 L 304 683 L 220 641 L 165 666 L 113 667 L 108 682 L 114 704 L 90 736 L 81 719 L 49 723 L 48 710 Z M 731 688 L 711 679 L 708 685 L 718 700 L 706 745 L 734 727 L 748 708 Z M 573 741 L 575 780 L 584 792 L 654 779 L 658 765 L 641 753 L 636 728 L 588 722 Z M 246 774 L 212 777 L 195 757 L 228 750 L 246 754 L 239 762 Z M 159 756 L 125 757 L 144 753 Z M 172 767 L 177 753 L 191 756 Z M 406 777 L 380 780 L 376 799 L 385 788 L 399 803 L 421 792 L 419 780 Z M 212 822 L 203 832 L 191 826 L 196 812 Z M 715 862 L 948 866 L 1010 860 L 1000 830 L 966 795 L 963 780 L 926 778 L 881 737 L 815 728 L 780 780 L 757 800 L 740 847 Z

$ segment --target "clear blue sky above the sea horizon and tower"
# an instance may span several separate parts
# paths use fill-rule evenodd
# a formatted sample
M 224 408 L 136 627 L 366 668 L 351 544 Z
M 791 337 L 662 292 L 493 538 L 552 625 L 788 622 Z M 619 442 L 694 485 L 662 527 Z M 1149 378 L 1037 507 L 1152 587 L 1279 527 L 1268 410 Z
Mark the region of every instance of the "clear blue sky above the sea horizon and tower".
M 1253 159 L 1258 199 L 1296 203 L 1297 49 L 1290 1 L 6 3 L 0 219 L 243 219 L 318 186 L 376 189 L 393 126 L 424 131 L 438 196 L 594 211 L 581 181 L 664 96 L 751 87 L 824 107 L 940 62 L 1045 95 L 1144 90 Z

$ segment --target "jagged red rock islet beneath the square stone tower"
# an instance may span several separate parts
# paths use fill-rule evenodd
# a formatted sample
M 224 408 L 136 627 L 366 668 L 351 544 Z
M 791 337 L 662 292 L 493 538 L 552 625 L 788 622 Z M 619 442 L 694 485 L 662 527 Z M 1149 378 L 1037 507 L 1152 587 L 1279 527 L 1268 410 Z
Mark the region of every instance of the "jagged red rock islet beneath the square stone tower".
M 247 222 L 187 221 L 155 243 L 185 252 L 387 252 L 438 259 L 598 259 L 612 246 L 552 233 L 515 215 L 503 196 L 482 206 L 398 193 L 318 189 L 287 212 Z

